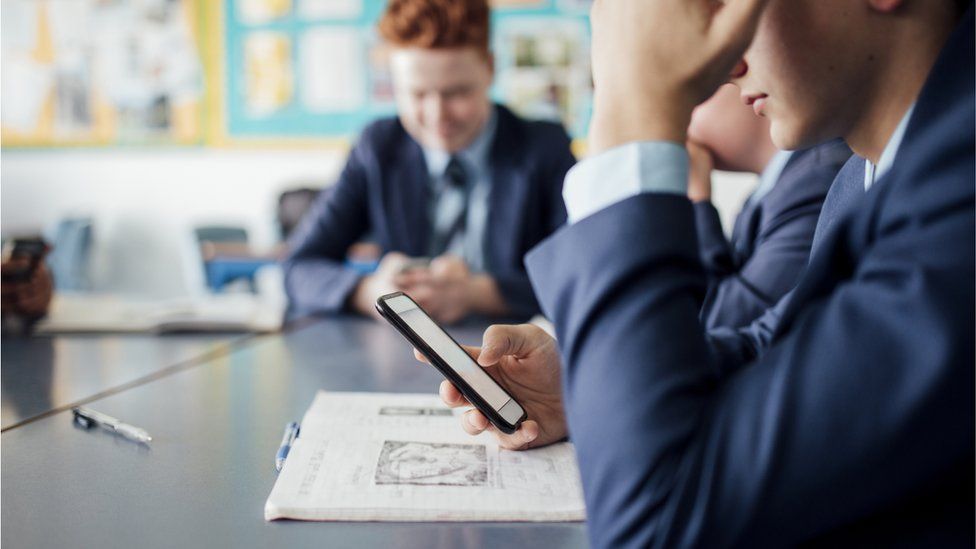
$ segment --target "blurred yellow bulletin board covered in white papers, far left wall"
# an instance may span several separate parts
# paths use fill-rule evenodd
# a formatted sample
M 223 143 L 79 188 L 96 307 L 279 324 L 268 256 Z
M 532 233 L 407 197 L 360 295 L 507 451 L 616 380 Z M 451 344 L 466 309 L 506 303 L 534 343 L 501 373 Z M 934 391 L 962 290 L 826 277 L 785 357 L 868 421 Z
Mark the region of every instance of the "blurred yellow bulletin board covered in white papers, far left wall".
M 200 144 L 204 1 L 3 0 L 3 146 Z

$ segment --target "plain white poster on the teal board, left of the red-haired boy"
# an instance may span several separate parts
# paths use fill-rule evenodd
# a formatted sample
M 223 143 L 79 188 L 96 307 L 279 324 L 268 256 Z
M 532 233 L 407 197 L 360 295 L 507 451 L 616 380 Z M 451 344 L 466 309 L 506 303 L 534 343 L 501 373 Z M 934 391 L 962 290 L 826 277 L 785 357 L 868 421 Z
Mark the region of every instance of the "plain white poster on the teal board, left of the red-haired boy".
M 365 42 L 352 27 L 318 27 L 301 40 L 302 103 L 310 112 L 353 111 L 366 104 Z

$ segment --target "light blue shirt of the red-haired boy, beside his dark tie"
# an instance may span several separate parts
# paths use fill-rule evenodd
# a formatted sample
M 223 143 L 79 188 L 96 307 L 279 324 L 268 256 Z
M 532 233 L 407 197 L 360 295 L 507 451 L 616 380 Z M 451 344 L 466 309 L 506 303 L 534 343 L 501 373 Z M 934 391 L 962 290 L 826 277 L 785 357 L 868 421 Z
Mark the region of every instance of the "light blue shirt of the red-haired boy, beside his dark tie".
M 464 258 L 473 271 L 488 268 L 485 257 L 485 230 L 488 225 L 488 198 L 491 192 L 491 144 L 495 139 L 498 115 L 492 107 L 488 122 L 478 137 L 466 148 L 455 153 L 468 177 L 468 204 L 464 224 L 463 249 L 449 249 Z M 444 188 L 444 170 L 451 160 L 446 151 L 424 148 L 427 172 L 430 175 L 429 219 L 436 219 L 440 204 L 440 191 Z

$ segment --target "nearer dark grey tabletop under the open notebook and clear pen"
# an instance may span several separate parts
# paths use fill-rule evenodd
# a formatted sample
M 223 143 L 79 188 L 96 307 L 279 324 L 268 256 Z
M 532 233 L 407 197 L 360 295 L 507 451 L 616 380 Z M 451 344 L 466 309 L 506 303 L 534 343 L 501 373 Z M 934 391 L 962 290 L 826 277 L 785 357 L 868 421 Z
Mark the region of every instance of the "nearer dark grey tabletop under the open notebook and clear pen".
M 452 330 L 477 343 L 481 328 Z M 10 547 L 585 547 L 582 524 L 263 519 L 287 421 L 318 389 L 433 392 L 385 325 L 326 319 L 91 403 L 148 430 L 147 448 L 63 412 L 2 435 Z

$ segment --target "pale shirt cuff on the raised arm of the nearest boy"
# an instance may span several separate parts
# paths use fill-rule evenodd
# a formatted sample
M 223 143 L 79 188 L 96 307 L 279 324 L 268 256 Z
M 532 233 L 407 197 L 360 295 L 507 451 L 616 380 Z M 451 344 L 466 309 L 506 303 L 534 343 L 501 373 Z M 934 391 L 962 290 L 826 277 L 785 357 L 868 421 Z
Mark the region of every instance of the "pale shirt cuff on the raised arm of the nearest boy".
M 688 152 L 670 141 L 627 143 L 587 158 L 566 174 L 569 223 L 641 193 L 688 193 Z

